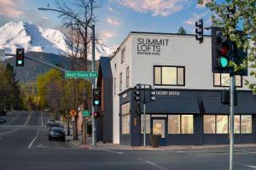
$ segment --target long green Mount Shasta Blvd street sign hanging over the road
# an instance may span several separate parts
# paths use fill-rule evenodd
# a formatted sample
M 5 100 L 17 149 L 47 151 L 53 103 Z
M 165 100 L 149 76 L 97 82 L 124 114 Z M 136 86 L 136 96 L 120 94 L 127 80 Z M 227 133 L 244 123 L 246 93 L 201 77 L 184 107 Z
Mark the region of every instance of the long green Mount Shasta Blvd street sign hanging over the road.
M 97 71 L 65 71 L 65 78 L 96 78 Z

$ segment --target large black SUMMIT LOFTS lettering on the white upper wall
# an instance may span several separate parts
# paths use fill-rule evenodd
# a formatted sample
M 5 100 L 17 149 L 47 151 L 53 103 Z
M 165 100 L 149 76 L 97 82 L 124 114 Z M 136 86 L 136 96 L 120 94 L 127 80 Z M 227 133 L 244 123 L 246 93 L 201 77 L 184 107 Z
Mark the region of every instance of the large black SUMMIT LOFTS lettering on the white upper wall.
M 160 55 L 162 47 L 168 46 L 169 39 L 137 38 L 137 54 Z

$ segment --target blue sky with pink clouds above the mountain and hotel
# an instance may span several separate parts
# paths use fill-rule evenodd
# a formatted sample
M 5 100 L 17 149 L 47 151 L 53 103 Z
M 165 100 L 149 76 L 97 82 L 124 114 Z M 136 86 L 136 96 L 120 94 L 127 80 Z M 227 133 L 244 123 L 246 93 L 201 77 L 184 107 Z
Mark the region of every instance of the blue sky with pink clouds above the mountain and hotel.
M 71 3 L 75 0 L 60 0 Z M 207 0 L 205 0 L 207 1 Z M 109 48 L 117 48 L 131 31 L 177 33 L 179 27 L 195 33 L 195 21 L 204 19 L 211 26 L 211 13 L 197 0 L 96 0 L 101 4 L 95 12 L 96 34 Z M 38 26 L 63 31 L 61 19 L 53 11 L 54 0 L 0 0 L 0 26 L 15 20 L 30 21 Z

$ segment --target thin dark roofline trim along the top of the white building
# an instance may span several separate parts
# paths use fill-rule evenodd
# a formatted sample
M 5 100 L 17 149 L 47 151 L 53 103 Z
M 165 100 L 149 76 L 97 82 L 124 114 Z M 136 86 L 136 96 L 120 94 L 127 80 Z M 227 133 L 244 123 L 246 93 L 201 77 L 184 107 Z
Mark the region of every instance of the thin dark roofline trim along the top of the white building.
M 131 37 L 131 34 L 151 34 L 151 35 L 169 35 L 169 36 L 189 36 L 194 37 L 195 34 L 177 34 L 177 33 L 166 33 L 166 32 L 147 32 L 147 31 L 131 31 L 127 37 L 120 43 L 119 47 L 113 52 L 110 60 L 113 59 L 115 54 L 117 54 L 120 50 L 120 47 Z M 210 35 L 204 35 L 204 37 L 212 37 Z

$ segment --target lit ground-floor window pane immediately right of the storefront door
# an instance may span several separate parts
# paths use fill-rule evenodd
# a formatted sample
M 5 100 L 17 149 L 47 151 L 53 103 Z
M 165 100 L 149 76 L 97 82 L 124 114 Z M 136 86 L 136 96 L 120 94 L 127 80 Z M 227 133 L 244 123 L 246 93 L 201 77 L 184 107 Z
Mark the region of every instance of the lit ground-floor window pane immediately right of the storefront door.
M 180 115 L 168 116 L 168 133 L 170 134 L 180 133 Z

